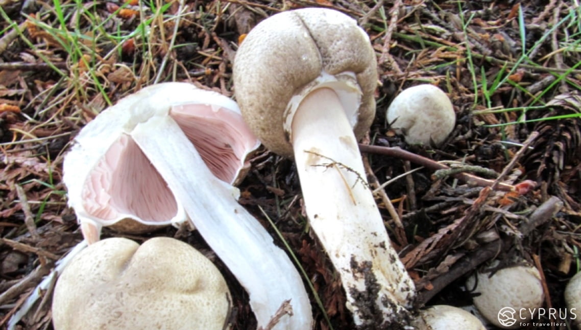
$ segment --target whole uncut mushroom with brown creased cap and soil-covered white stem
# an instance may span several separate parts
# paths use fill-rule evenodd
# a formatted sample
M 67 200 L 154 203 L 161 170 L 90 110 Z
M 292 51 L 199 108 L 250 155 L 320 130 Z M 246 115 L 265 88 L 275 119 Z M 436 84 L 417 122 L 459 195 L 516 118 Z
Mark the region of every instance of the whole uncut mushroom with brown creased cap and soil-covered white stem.
M 400 323 L 414 283 L 390 245 L 357 147 L 375 114 L 368 35 L 331 9 L 278 13 L 249 32 L 233 72 L 250 128 L 266 147 L 295 158 L 310 226 L 340 275 L 355 324 Z

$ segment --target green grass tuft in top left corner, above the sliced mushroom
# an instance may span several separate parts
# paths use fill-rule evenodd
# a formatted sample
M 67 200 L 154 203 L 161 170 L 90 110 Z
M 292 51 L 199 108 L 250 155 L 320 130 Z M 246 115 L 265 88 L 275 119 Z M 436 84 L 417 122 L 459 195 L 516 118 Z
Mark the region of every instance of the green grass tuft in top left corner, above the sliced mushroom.
M 110 13 L 109 16 L 101 17 L 96 12 L 96 4 L 87 6 L 81 0 L 53 0 L 52 6 L 44 6 L 41 12 L 37 14 L 37 17 L 26 16 L 27 20 L 34 24 L 36 30 L 42 36 L 48 37 L 57 44 L 54 48 L 57 50 L 60 48 L 66 53 L 64 60 L 67 63 L 68 70 L 56 67 L 51 56 L 46 55 L 46 46 L 40 46 L 42 43 L 34 42 L 29 33 L 19 30 L 18 24 L 11 20 L 0 8 L 0 16 L 9 23 L 9 26 L 4 31 L 17 29 L 21 41 L 60 77 L 53 89 L 44 95 L 49 97 L 46 97 L 41 107 L 35 108 L 35 117 L 37 118 L 33 119 L 42 119 L 43 115 L 48 112 L 46 111 L 47 109 L 63 108 L 62 105 L 56 104 L 56 102 L 63 99 L 77 101 L 82 104 L 90 103 L 94 99 L 95 93 L 101 95 L 106 105 L 110 106 L 112 100 L 107 93 L 108 81 L 103 69 L 112 66 L 110 63 L 113 63 L 113 66 L 116 64 L 116 58 L 121 55 L 121 47 L 129 39 L 134 38 L 137 41 L 136 46 L 142 47 L 144 63 L 146 63 L 141 66 L 141 72 L 133 72 L 134 76 L 143 77 L 142 75 L 145 74 L 145 77 L 153 79 L 154 77 L 151 77 L 149 72 L 155 70 L 150 70 L 148 66 L 156 65 L 152 56 L 157 50 L 152 49 L 153 41 L 150 41 L 152 36 L 150 32 L 152 30 L 159 31 L 160 28 L 163 28 L 157 26 L 157 24 L 159 22 L 163 23 L 164 19 L 180 19 L 180 16 L 164 17 L 170 6 L 171 3 L 162 3 L 159 7 L 156 7 L 155 2 L 151 2 L 148 10 L 151 10 L 153 14 L 148 15 L 147 19 L 138 23 L 137 27 L 132 31 L 124 31 L 120 27 L 122 21 L 116 19 L 117 13 L 126 8 L 127 5 L 121 6 L 115 12 Z M 144 10 L 143 7 L 142 10 Z M 105 26 L 108 26 L 111 31 L 107 31 Z M 177 27 L 177 24 L 175 26 Z M 171 46 L 173 46 L 175 33 L 173 35 Z M 107 49 L 108 52 L 100 54 L 102 49 Z M 167 53 L 171 52 L 168 51 Z M 166 61 L 167 56 L 164 59 L 163 66 Z M 163 66 L 159 70 L 157 77 L 155 77 L 156 82 L 161 80 Z M 139 68 L 139 66 L 132 67 L 135 70 Z M 66 91 L 66 96 L 59 95 L 63 90 Z M 51 99 L 50 96 L 56 95 L 60 97 L 54 97 L 54 100 L 49 100 Z M 67 97 L 69 95 L 71 96 Z

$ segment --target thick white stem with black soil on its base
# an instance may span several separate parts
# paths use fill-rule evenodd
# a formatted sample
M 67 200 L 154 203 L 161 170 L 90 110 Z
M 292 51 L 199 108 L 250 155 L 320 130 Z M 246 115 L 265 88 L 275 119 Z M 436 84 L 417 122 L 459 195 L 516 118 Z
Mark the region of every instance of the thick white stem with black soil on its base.
M 400 322 L 414 283 L 389 242 L 353 130 L 336 93 L 315 89 L 297 108 L 292 143 L 303 198 L 358 326 Z

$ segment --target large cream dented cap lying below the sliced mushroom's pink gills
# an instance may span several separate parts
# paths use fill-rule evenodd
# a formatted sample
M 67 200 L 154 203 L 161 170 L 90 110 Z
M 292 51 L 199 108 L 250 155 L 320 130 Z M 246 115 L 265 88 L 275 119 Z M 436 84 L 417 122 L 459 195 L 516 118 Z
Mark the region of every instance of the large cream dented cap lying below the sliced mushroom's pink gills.
M 222 330 L 228 309 L 220 271 L 167 237 L 89 245 L 64 269 L 52 300 L 55 330 Z

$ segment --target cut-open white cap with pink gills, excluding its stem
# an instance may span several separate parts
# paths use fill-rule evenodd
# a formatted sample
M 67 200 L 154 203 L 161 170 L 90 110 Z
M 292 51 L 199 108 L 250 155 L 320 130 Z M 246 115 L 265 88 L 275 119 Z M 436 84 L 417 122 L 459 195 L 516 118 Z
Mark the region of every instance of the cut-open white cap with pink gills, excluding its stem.
M 216 92 L 167 82 L 124 97 L 85 125 L 64 157 L 69 205 L 89 242 L 98 239 L 101 226 L 138 233 L 187 220 L 180 201 L 131 138 L 131 130 L 152 115 L 173 118 L 224 182 L 243 178 L 249 155 L 260 144 L 237 104 Z M 171 143 L 167 132 L 153 133 Z

